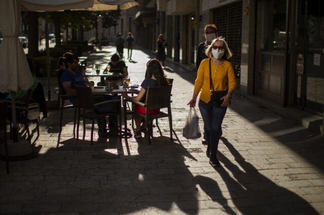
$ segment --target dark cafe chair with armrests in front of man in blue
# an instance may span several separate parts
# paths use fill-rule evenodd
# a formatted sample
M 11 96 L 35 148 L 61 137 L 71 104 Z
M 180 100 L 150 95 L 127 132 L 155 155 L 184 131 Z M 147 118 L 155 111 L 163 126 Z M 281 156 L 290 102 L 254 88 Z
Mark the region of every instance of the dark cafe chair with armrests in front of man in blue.
M 76 126 L 76 140 L 78 140 L 78 133 L 79 133 L 79 124 L 80 124 L 80 117 L 83 117 L 83 139 L 85 139 L 86 135 L 86 120 L 90 119 L 92 121 L 91 126 L 91 145 L 93 144 L 93 130 L 95 120 L 102 119 L 108 116 L 118 116 L 119 120 L 119 142 L 121 142 L 121 108 L 120 108 L 120 99 L 113 99 L 108 101 L 102 101 L 99 103 L 95 103 L 94 96 L 92 94 L 92 90 L 90 87 L 81 87 L 75 86 L 76 96 L 77 96 L 77 126 Z M 103 114 L 96 113 L 96 106 L 102 104 L 117 104 L 117 111 L 116 112 L 107 112 Z M 81 109 L 83 109 L 83 113 L 81 113 Z

